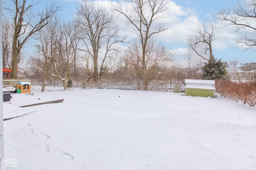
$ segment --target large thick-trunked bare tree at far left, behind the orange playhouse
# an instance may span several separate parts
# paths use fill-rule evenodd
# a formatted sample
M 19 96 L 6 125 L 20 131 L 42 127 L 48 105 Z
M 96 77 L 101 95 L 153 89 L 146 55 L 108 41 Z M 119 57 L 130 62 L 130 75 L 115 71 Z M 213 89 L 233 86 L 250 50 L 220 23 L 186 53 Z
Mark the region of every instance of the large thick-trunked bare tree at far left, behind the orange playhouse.
M 5 8 L 12 15 L 12 26 L 14 29 L 12 39 L 12 78 L 17 78 L 17 68 L 20 61 L 20 51 L 29 39 L 48 24 L 60 7 L 52 4 L 43 12 L 33 12 L 32 8 L 38 4 L 27 5 L 26 0 L 12 0 L 14 6 Z

